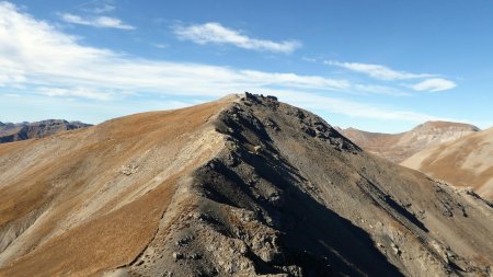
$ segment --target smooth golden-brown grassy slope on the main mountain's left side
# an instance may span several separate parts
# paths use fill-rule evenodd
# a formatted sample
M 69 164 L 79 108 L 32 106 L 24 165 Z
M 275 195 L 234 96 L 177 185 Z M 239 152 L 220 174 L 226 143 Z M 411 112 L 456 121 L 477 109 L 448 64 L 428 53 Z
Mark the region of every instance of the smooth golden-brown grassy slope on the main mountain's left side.
M 206 123 L 227 102 L 1 145 L 0 275 L 80 276 L 131 262 L 175 183 L 217 151 Z

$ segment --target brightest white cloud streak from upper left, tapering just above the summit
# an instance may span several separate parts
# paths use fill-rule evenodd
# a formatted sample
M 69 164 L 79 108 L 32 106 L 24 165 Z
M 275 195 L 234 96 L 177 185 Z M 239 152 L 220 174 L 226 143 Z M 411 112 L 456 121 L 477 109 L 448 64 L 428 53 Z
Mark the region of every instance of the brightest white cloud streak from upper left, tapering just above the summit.
M 175 95 L 222 95 L 254 88 L 296 86 L 322 91 L 347 88 L 347 81 L 317 76 L 239 70 L 198 64 L 156 61 L 122 56 L 79 44 L 46 22 L 0 4 L 1 76 L 10 82 L 60 88 L 96 88 L 162 92 Z M 15 72 L 9 73 L 8 72 Z M 7 83 L 7 81 L 4 82 Z

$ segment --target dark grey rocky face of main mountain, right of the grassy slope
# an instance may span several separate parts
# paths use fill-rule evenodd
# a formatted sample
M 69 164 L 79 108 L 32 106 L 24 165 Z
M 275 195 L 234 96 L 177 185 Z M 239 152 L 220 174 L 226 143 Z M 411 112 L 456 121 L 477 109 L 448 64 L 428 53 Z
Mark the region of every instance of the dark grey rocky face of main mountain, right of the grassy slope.
M 174 234 L 158 232 L 129 273 L 301 277 L 489 270 L 432 238 L 424 223 L 435 212 L 467 217 L 448 188 L 431 182 L 437 197 L 433 212 L 403 200 L 391 193 L 399 184 L 372 176 L 392 178 L 393 165 L 372 169 L 367 155 L 322 118 L 273 96 L 245 93 L 215 126 L 226 148 L 195 172 L 187 191 L 198 197 L 196 206 L 175 219 Z M 360 199 L 354 206 L 353 197 Z M 385 216 L 374 217 L 377 210 Z M 422 266 L 427 263 L 429 268 Z

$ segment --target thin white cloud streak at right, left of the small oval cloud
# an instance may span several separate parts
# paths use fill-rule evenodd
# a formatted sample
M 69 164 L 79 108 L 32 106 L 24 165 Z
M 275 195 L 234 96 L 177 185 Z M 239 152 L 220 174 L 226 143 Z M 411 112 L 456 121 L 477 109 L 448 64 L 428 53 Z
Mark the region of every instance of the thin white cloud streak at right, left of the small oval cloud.
M 405 80 L 405 79 L 420 79 L 433 77 L 433 74 L 427 73 L 416 74 L 405 71 L 398 71 L 381 65 L 360 64 L 360 62 L 340 62 L 333 60 L 325 60 L 324 64 L 360 72 L 380 80 Z

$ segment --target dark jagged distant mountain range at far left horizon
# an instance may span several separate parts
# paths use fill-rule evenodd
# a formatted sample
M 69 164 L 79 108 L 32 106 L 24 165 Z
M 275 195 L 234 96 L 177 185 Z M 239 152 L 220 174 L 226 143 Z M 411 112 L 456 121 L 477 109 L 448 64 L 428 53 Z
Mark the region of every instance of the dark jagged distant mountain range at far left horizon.
M 81 122 L 67 122 L 64 119 L 48 119 L 35 123 L 1 123 L 0 143 L 12 142 L 32 138 L 44 138 L 65 130 L 85 128 L 91 126 Z

